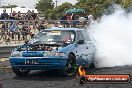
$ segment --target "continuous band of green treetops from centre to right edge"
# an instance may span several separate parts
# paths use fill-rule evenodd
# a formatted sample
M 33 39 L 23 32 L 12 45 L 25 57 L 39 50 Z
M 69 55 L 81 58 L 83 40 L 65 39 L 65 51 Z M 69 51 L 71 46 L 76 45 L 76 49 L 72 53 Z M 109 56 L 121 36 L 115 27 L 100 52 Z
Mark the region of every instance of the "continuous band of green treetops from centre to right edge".
M 71 0 L 72 1 L 72 0 Z M 65 11 L 73 8 L 84 9 L 86 13 L 92 14 L 95 17 L 101 16 L 104 11 L 107 11 L 113 3 L 121 5 L 123 8 L 132 6 L 132 0 L 77 0 L 73 6 L 71 3 L 63 3 L 60 6 L 54 7 L 52 0 L 39 0 L 36 4 L 36 9 L 45 14 L 47 19 L 60 18 Z

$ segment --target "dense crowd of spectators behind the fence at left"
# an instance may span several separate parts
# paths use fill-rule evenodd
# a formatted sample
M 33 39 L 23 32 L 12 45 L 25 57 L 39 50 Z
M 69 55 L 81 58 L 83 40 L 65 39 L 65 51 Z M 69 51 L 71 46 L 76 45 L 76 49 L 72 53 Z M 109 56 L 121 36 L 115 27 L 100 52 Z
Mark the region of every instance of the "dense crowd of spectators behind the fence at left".
M 27 13 L 21 13 L 18 11 L 13 11 L 11 14 L 8 14 L 6 10 L 3 10 L 3 13 L 0 16 L 1 20 L 1 36 L 0 39 L 5 36 L 11 35 L 11 38 L 14 39 L 14 36 L 17 34 L 18 39 L 20 39 L 20 35 L 23 36 L 23 40 L 27 35 L 31 35 L 30 32 L 30 24 L 33 24 L 33 28 L 36 27 L 36 21 L 38 16 L 36 13 L 34 13 L 34 10 L 30 11 L 28 10 Z M 15 20 L 15 21 L 14 21 Z M 17 21 L 18 20 L 18 21 Z M 29 21 L 30 20 L 30 21 Z M 21 24 L 22 27 L 18 27 L 18 25 Z

